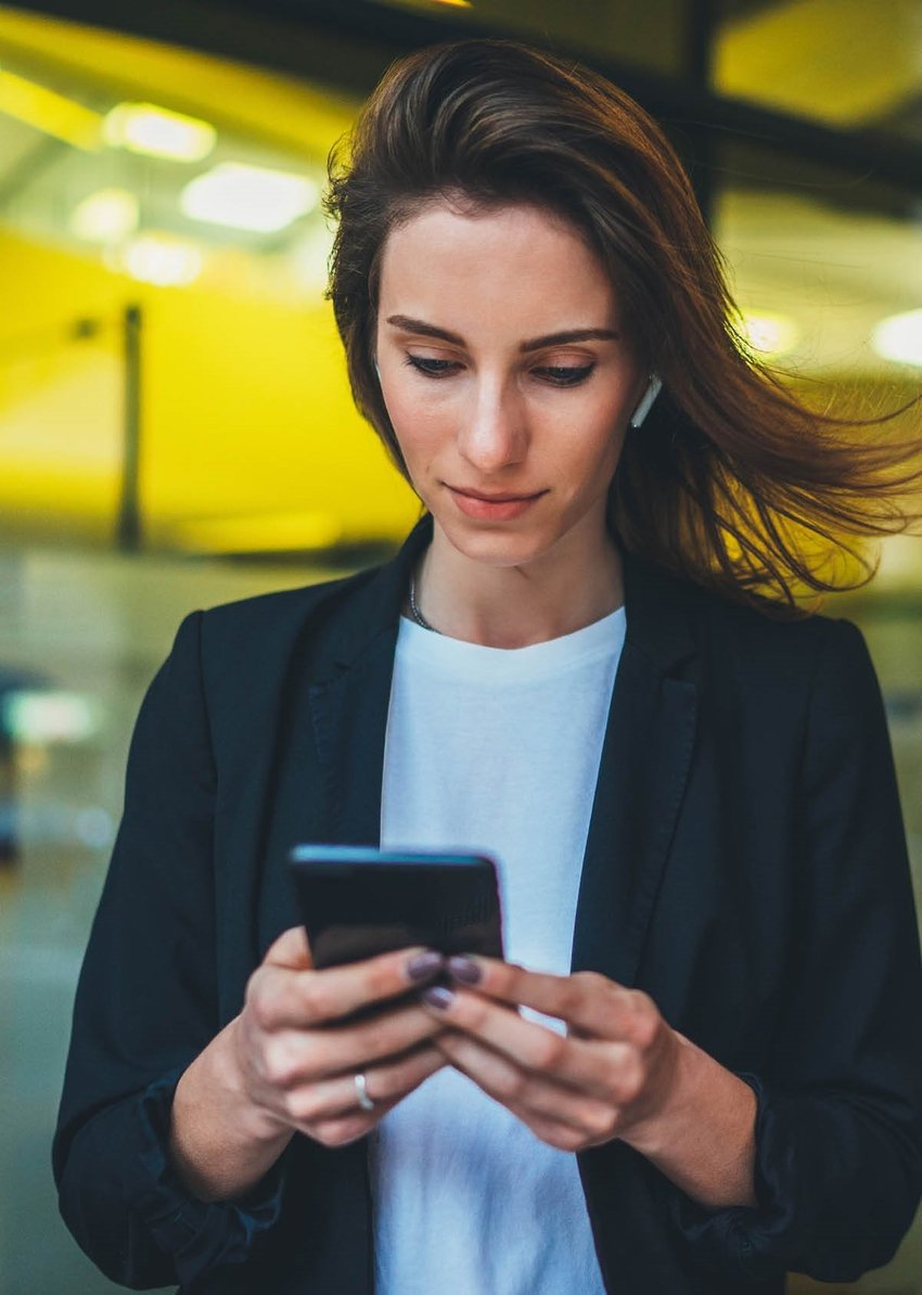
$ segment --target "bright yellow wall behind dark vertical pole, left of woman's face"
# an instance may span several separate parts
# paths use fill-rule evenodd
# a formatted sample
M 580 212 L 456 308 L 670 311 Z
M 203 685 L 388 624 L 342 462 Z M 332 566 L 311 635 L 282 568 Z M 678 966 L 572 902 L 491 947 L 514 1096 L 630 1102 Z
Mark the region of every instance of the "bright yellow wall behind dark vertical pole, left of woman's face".
M 399 537 L 418 508 L 357 417 L 332 310 L 242 289 L 154 289 L 0 234 L 0 526 L 107 540 L 124 307 L 144 311 L 142 514 L 155 545 Z M 82 317 L 106 321 L 69 338 Z

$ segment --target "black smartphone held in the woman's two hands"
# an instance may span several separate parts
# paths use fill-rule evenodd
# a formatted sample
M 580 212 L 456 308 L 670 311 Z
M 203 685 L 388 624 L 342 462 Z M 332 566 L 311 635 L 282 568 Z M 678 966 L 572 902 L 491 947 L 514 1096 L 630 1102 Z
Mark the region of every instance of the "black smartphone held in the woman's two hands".
M 486 855 L 303 844 L 289 872 L 316 967 L 417 944 L 502 957 L 499 879 Z

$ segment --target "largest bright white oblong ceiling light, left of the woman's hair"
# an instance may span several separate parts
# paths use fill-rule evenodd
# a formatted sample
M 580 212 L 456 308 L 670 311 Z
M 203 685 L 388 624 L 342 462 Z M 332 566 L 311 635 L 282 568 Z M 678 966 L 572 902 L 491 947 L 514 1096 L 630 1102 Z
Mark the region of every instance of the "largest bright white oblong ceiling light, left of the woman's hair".
M 180 206 L 193 220 L 268 234 L 285 229 L 319 201 L 320 189 L 304 175 L 221 162 L 186 184 Z

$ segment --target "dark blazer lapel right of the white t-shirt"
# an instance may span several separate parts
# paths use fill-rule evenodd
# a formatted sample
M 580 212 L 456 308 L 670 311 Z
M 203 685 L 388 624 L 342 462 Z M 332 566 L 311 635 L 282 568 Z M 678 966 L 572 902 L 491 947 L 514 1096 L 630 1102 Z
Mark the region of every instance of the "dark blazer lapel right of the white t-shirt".
M 627 636 L 589 824 L 572 970 L 631 985 L 682 800 L 697 689 L 671 677 L 694 653 L 681 587 L 624 558 Z

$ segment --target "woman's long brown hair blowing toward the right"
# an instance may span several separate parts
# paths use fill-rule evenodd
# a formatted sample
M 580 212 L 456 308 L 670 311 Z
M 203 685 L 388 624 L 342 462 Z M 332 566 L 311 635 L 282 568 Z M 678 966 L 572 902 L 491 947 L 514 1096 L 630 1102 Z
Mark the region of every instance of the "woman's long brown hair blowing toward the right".
M 918 443 L 882 434 L 894 416 L 809 411 L 759 363 L 679 157 L 605 78 L 505 40 L 422 49 L 388 69 L 330 154 L 329 180 L 329 297 L 352 395 L 404 475 L 374 374 L 386 240 L 436 198 L 464 210 L 522 202 L 580 231 L 638 359 L 664 383 L 610 490 L 609 523 L 628 552 L 802 615 L 804 588 L 871 578 L 859 537 L 914 521 L 905 504 L 922 478 Z

